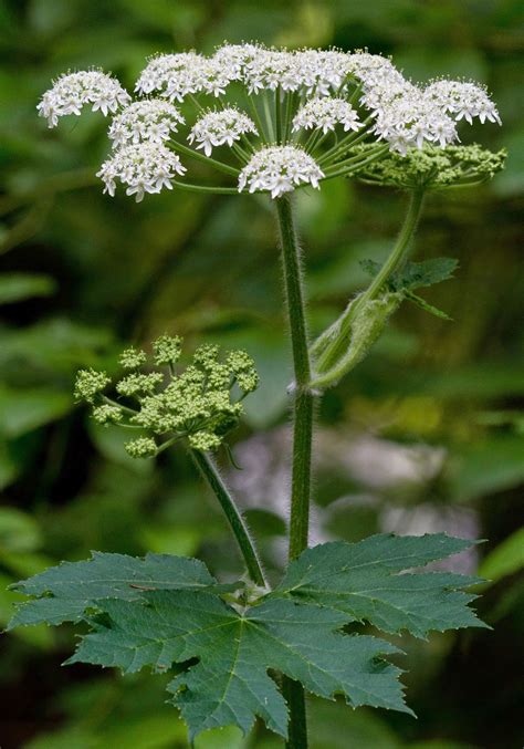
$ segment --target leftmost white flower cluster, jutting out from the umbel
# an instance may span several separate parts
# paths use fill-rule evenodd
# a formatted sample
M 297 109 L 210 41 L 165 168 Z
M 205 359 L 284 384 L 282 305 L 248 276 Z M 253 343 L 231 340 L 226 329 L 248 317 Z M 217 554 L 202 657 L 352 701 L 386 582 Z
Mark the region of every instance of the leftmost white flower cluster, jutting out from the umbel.
M 99 110 L 107 115 L 129 102 L 129 94 L 116 79 L 99 70 L 90 70 L 62 75 L 44 93 L 36 108 L 49 126 L 55 127 L 59 117 L 80 115 L 85 104 L 91 104 L 93 112 Z

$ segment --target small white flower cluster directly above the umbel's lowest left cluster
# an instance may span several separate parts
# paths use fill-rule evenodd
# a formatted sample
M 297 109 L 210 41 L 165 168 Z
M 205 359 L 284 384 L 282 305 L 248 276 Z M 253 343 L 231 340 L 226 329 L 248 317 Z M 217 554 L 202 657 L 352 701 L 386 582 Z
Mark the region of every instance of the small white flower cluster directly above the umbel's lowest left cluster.
M 133 102 L 113 119 L 108 136 L 114 148 L 143 141 L 163 143 L 176 133 L 184 117 L 176 106 L 159 98 Z

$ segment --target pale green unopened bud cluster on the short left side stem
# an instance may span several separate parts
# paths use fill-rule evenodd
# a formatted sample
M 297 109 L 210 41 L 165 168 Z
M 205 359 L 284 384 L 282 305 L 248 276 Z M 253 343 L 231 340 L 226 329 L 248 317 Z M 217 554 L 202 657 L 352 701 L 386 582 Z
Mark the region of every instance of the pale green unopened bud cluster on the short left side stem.
M 221 356 L 219 346 L 205 344 L 179 370 L 181 352 L 182 340 L 169 335 L 153 343 L 150 357 L 142 350 L 126 349 L 119 361 L 127 373 L 114 385 L 124 404 L 103 393 L 111 383 L 105 372 L 77 374 L 75 397 L 92 405 L 98 424 L 140 431 L 126 443 L 133 457 L 151 457 L 181 438 L 197 450 L 216 449 L 237 426 L 245 395 L 259 385 L 253 360 L 243 351 Z M 148 363 L 165 368 L 140 372 Z

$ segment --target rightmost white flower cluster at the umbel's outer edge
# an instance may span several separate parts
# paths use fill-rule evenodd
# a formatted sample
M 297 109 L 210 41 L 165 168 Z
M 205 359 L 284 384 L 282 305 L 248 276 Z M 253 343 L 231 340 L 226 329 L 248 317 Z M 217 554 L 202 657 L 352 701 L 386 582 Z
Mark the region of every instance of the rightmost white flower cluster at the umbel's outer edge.
M 483 124 L 486 119 L 501 125 L 501 117 L 486 90 L 476 83 L 467 81 L 433 81 L 426 87 L 425 98 L 434 102 L 457 121 L 473 123 L 479 117 Z

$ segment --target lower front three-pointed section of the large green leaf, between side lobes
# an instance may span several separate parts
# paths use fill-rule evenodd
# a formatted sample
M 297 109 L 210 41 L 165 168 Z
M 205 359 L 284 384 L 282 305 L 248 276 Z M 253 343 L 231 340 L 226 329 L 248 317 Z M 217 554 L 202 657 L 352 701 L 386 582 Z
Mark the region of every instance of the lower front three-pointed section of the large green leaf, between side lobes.
M 108 620 L 95 624 L 67 663 L 164 672 L 174 662 L 198 658 L 168 686 L 191 738 L 229 725 L 247 732 L 255 716 L 285 737 L 287 708 L 269 668 L 321 697 L 344 694 L 354 707 L 409 711 L 399 669 L 382 659 L 398 649 L 376 637 L 335 632 L 347 621 L 342 612 L 269 595 L 240 614 L 218 596 L 186 591 L 107 601 L 104 610 Z

